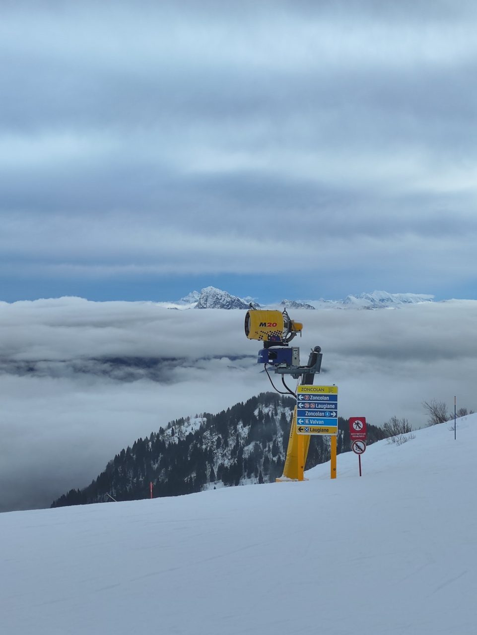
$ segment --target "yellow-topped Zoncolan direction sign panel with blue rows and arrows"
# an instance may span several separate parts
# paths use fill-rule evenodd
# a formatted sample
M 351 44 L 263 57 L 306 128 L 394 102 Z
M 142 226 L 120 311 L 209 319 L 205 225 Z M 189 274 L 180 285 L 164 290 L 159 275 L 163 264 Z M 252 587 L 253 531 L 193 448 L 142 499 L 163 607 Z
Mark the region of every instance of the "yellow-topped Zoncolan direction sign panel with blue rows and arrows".
M 338 434 L 338 387 L 297 388 L 297 432 Z

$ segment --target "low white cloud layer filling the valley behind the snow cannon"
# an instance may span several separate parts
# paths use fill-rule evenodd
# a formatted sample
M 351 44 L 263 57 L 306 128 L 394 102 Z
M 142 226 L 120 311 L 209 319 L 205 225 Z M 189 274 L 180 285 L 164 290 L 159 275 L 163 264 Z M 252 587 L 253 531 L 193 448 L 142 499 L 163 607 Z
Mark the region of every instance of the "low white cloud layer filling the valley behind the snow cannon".
M 302 361 L 321 345 L 340 415 L 426 424 L 423 401 L 477 410 L 477 303 L 290 311 Z M 243 311 L 173 311 L 81 298 L 0 303 L 0 509 L 47 506 L 173 418 L 271 389 Z M 290 385 L 294 385 L 293 382 Z

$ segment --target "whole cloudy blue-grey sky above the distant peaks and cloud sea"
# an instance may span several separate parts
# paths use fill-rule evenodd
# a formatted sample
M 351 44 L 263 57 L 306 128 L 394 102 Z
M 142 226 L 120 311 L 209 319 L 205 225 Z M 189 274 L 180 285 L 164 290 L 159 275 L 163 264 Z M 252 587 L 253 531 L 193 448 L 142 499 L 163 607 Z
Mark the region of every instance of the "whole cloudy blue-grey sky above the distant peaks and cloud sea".
M 477 5 L 0 4 L 0 299 L 476 298 Z

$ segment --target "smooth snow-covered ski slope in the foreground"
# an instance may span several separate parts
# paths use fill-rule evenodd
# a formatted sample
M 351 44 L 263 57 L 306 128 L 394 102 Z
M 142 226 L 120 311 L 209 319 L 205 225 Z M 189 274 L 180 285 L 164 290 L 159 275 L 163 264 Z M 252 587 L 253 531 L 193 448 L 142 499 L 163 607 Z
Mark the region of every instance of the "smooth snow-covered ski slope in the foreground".
M 309 481 L 0 515 L 8 635 L 473 635 L 477 415 Z

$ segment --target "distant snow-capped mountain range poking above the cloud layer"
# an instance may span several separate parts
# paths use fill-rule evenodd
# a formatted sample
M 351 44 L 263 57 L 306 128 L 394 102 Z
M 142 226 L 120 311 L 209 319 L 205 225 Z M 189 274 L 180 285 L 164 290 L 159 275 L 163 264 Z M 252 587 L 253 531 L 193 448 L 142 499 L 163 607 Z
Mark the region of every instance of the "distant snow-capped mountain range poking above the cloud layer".
M 281 300 L 278 304 L 263 305 L 253 298 L 239 298 L 213 286 L 192 291 L 175 302 L 159 302 L 170 309 L 248 309 L 252 302 L 255 307 L 266 309 L 397 309 L 405 304 L 433 302 L 433 295 L 417 293 L 387 293 L 373 291 L 361 295 L 348 295 L 344 300 Z

